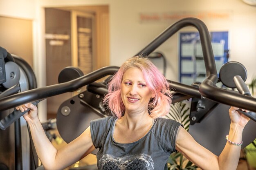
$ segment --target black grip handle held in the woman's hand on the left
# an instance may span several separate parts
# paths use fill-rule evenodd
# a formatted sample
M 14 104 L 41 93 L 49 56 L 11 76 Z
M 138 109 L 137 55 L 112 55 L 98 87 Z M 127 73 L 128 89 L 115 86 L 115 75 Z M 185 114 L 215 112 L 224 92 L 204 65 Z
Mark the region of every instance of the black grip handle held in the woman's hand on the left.
M 37 105 L 40 102 L 40 100 L 33 102 L 32 104 Z M 30 109 L 25 110 L 24 112 L 21 112 L 20 110 L 14 109 L 14 111 L 4 117 L 2 120 L 0 120 L 0 129 L 5 130 L 8 128 L 14 121 L 18 120 L 22 115 L 27 113 Z

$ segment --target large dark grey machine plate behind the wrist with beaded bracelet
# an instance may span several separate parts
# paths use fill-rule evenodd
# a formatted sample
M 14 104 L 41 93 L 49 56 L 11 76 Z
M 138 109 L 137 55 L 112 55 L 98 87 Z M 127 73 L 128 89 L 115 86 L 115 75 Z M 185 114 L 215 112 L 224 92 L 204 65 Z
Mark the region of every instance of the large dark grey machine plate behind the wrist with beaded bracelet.
M 200 123 L 189 125 L 189 133 L 202 146 L 213 152 L 215 155 L 220 155 L 227 140 L 226 135 L 229 134 L 230 106 L 218 104 L 216 108 L 209 111 Z M 256 122 L 249 121 L 243 130 L 243 145 L 242 148 L 249 145 L 256 138 Z

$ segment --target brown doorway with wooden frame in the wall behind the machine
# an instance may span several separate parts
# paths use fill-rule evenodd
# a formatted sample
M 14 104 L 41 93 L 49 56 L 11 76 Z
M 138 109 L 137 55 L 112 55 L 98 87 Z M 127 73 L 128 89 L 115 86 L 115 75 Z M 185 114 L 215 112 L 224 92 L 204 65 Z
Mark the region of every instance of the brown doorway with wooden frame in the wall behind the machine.
M 58 84 L 58 74 L 67 66 L 86 75 L 109 65 L 108 6 L 45 8 L 47 86 Z M 76 95 L 65 93 L 47 98 L 47 119 Z

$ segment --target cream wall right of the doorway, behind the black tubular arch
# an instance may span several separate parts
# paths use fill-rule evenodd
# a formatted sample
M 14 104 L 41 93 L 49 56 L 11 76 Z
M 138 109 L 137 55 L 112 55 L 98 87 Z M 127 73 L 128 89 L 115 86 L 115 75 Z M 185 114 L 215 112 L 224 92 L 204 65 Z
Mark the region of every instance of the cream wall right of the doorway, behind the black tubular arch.
M 256 7 L 240 0 L 130 0 L 110 4 L 111 64 L 118 65 L 139 52 L 172 23 L 139 23 L 139 13 L 176 11 L 227 11 L 226 20 L 203 20 L 209 31 L 230 32 L 230 59 L 241 62 L 248 71 L 248 80 L 256 75 Z M 187 28 L 190 29 L 190 28 Z M 186 29 L 186 30 L 187 30 Z M 178 35 L 174 35 L 160 49 L 168 58 L 167 78 L 177 80 Z

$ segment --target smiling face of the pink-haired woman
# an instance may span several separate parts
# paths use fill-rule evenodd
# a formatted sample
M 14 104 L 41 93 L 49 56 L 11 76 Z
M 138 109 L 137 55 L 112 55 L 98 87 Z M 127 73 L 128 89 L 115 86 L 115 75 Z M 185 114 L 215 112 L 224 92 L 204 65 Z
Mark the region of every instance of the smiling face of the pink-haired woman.
M 121 98 L 126 108 L 130 112 L 148 112 L 148 102 L 153 93 L 149 89 L 142 71 L 132 67 L 124 72 L 121 83 Z

